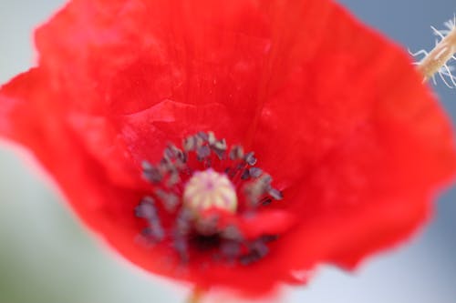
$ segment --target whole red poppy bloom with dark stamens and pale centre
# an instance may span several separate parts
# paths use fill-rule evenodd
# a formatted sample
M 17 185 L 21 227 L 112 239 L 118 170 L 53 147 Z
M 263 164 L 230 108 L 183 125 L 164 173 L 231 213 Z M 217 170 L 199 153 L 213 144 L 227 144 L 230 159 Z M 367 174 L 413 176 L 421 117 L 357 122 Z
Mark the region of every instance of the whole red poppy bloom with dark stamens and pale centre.
M 201 288 L 352 268 L 456 170 L 409 58 L 331 1 L 74 0 L 36 45 L 0 133 L 125 258 Z

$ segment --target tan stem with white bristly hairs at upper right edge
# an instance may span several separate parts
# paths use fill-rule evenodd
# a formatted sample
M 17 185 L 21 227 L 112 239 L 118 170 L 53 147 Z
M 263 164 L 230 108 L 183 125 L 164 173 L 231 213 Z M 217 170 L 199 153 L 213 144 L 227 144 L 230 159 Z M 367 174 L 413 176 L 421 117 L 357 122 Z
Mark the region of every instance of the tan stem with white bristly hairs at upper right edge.
M 421 56 L 421 60 L 414 65 L 424 76 L 424 81 L 432 79 L 436 84 L 435 77 L 439 75 L 446 86 L 456 87 L 456 76 L 453 75 L 456 68 L 451 66 L 451 63 L 456 62 L 456 15 L 444 25 L 446 28 L 442 30 L 430 26 L 437 37 L 435 47 L 430 52 L 421 49 L 416 53 L 409 53 L 411 56 Z

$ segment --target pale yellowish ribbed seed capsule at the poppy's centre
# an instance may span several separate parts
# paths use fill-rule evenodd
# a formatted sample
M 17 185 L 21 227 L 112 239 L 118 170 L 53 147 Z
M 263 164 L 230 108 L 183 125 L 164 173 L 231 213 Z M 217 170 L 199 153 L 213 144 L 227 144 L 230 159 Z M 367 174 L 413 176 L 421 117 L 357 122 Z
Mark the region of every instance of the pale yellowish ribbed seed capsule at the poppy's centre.
M 212 168 L 197 171 L 185 185 L 183 206 L 196 216 L 212 208 L 234 213 L 237 207 L 236 190 L 226 175 Z

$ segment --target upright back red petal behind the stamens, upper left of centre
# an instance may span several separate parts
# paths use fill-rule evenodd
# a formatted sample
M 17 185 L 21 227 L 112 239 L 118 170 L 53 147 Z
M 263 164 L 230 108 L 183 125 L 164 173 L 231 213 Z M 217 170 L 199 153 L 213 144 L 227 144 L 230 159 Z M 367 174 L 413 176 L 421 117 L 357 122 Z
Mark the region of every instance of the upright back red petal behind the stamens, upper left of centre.
M 256 5 L 73 1 L 36 32 L 40 65 L 67 95 L 71 115 L 78 115 L 75 132 L 117 178 L 138 168 L 138 159 L 160 157 L 162 129 L 174 142 L 205 129 L 244 141 L 270 44 L 266 15 Z M 166 118 L 150 116 L 161 110 Z M 103 130 L 92 130 L 101 134 L 85 136 L 93 122 L 83 119 L 101 123 Z M 123 145 L 125 161 L 118 157 Z M 105 161 L 100 149 L 115 158 Z

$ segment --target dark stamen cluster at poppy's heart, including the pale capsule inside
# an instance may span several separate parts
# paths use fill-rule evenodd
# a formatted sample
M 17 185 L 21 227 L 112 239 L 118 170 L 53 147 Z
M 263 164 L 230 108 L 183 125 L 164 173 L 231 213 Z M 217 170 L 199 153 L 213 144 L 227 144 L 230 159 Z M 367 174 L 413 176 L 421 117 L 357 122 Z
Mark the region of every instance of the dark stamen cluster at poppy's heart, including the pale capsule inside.
M 278 235 L 247 239 L 235 224 L 221 223 L 223 216 L 252 215 L 282 199 L 256 162 L 254 152 L 228 148 L 212 132 L 186 137 L 182 148 L 169 144 L 157 165 L 142 164 L 151 191 L 135 208 L 145 223 L 141 239 L 170 245 L 182 262 L 195 251 L 244 265 L 263 258 Z

